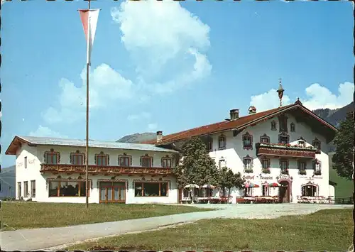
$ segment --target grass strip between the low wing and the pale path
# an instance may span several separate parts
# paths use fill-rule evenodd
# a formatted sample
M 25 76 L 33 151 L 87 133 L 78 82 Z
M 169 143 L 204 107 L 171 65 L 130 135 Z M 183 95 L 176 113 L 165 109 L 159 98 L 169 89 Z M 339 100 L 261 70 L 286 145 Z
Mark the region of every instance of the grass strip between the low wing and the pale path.
M 5 230 L 32 229 L 211 210 L 161 204 L 89 204 L 87 209 L 85 204 L 2 202 L 1 222 Z

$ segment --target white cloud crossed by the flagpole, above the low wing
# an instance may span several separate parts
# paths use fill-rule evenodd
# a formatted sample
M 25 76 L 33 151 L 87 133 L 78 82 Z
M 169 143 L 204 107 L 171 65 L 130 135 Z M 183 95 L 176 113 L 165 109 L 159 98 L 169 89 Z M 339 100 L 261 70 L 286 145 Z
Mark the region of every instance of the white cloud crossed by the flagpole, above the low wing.
M 50 106 L 43 114 L 47 124 L 57 124 L 65 121 L 73 123 L 84 119 L 86 109 L 86 68 L 80 75 L 81 87 L 75 87 L 73 82 L 63 78 L 59 82 L 62 89 L 59 97 L 59 107 Z M 126 80 L 119 72 L 107 64 L 101 64 L 90 72 L 89 109 L 102 109 L 118 99 L 133 97 L 134 86 L 131 80 Z

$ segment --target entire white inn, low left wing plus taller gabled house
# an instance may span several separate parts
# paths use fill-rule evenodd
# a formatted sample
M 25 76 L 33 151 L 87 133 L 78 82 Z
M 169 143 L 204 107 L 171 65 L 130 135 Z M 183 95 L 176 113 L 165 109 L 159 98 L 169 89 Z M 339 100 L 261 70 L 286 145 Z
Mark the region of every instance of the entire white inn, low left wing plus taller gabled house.
M 295 104 L 163 136 L 150 143 L 89 141 L 89 202 L 177 203 L 172 167 L 184 141 L 199 136 L 217 167 L 246 178 L 237 197 L 278 195 L 282 202 L 300 197 L 334 197 L 329 185 L 327 143 L 337 128 Z M 16 155 L 16 198 L 38 202 L 85 202 L 85 141 L 16 136 L 6 150 Z M 175 149 L 175 150 L 173 150 Z M 273 187 L 272 184 L 282 185 Z M 219 195 L 218 190 L 214 192 Z

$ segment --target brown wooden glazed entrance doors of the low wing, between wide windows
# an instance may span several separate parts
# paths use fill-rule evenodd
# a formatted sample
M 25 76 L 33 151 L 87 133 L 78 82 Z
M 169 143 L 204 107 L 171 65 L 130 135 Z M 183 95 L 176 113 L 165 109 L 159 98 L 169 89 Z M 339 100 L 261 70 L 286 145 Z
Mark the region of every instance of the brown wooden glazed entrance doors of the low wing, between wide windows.
M 125 182 L 100 182 L 100 203 L 125 203 Z

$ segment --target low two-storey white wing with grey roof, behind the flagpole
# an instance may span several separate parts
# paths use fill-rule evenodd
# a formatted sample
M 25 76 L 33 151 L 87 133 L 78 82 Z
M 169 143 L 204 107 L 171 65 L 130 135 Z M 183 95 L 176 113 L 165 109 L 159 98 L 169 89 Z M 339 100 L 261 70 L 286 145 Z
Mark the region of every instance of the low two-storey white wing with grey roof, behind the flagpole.
M 16 136 L 16 199 L 85 202 L 85 141 Z M 89 141 L 89 203 L 176 203 L 177 152 L 148 144 Z

